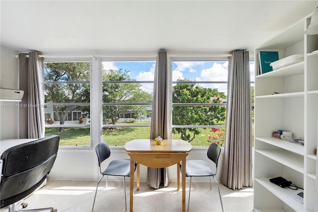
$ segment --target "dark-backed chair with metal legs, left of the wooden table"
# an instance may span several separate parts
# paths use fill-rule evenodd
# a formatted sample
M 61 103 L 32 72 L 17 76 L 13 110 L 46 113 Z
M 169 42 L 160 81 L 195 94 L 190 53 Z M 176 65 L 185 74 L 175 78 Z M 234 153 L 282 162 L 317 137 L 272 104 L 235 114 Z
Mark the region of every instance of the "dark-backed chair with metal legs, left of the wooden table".
M 106 142 L 102 142 L 97 144 L 96 146 L 96 154 L 97 154 L 97 159 L 98 159 L 98 166 L 99 166 L 99 171 L 100 174 L 102 174 L 101 178 L 99 179 L 97 186 L 96 186 L 96 192 L 95 192 L 95 197 L 94 197 L 94 202 L 93 202 L 93 207 L 91 208 L 91 211 L 94 209 L 95 205 L 95 199 L 96 199 L 96 194 L 97 194 L 97 189 L 98 189 L 98 184 L 101 181 L 101 179 L 106 175 L 106 188 L 107 188 L 107 183 L 108 183 L 108 175 L 111 176 L 123 176 L 124 177 L 124 189 L 125 189 L 125 207 L 127 211 L 127 200 L 126 200 L 126 185 L 125 185 L 125 177 L 130 177 L 130 159 L 117 159 L 117 160 L 112 160 L 107 168 L 102 172 L 101 171 L 101 163 L 105 161 L 107 158 L 110 156 L 110 149 L 109 146 Z M 135 162 L 135 169 L 136 170 L 137 163 Z

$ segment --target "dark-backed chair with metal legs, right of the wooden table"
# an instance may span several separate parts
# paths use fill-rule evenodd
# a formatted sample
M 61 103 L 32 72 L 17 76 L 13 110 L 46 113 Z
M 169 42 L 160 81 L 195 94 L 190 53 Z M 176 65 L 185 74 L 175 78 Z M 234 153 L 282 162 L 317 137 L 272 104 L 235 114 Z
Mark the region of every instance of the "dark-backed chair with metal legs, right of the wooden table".
M 185 176 L 190 177 L 190 188 L 189 188 L 189 200 L 188 200 L 188 211 L 189 211 L 189 203 L 190 203 L 190 193 L 191 193 L 191 181 L 192 177 L 204 177 L 209 176 L 210 177 L 210 190 L 211 190 L 211 177 L 215 180 L 215 182 L 218 185 L 219 190 L 219 196 L 221 201 L 221 207 L 223 210 L 223 203 L 222 203 L 222 197 L 221 192 L 219 188 L 218 181 L 214 178 L 217 175 L 218 170 L 218 161 L 221 153 L 221 147 L 216 143 L 211 143 L 211 145 L 208 148 L 207 156 L 210 160 L 212 160 L 215 163 L 216 170 L 215 173 L 213 173 L 208 165 L 208 163 L 204 160 L 186 160 L 185 163 Z

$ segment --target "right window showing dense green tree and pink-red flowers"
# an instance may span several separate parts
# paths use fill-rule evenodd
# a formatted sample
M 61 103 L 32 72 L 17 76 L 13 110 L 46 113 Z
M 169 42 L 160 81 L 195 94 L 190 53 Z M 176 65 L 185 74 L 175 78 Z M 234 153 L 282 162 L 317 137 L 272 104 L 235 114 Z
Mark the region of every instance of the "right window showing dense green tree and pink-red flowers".
M 228 61 L 173 60 L 172 137 L 192 146 L 224 146 L 227 84 Z

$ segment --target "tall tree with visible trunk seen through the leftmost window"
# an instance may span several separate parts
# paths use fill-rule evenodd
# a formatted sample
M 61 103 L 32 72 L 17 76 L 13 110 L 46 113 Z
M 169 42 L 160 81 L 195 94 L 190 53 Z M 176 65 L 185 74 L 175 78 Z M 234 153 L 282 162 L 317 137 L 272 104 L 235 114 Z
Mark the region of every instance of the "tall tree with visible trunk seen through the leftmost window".
M 62 103 L 54 108 L 60 124 L 64 124 L 68 115 L 80 106 L 62 106 L 63 103 L 89 102 L 89 84 L 68 83 L 72 81 L 89 81 L 89 62 L 60 62 L 44 64 L 44 80 L 59 82 L 45 84 L 45 101 Z M 87 107 L 87 106 L 86 106 Z M 60 127 L 62 132 L 64 127 Z

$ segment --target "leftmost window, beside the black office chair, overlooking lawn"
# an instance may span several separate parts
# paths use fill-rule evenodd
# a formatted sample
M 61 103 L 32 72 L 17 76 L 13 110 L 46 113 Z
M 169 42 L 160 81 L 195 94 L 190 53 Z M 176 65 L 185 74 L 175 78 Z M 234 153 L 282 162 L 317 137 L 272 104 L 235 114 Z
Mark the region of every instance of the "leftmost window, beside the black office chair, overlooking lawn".
M 44 62 L 45 136 L 90 147 L 90 61 Z

